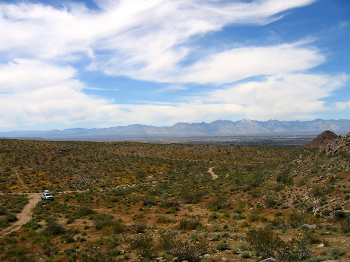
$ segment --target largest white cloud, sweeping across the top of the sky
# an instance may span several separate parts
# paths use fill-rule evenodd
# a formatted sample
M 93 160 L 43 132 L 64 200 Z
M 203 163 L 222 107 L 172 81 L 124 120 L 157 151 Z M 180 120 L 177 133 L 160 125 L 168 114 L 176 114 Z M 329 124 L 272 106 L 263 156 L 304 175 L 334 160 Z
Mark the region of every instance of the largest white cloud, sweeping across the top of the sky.
M 99 11 L 79 4 L 55 9 L 40 4 L 3 3 L 0 52 L 8 59 L 71 61 L 89 57 L 90 69 L 167 80 L 172 73 L 179 74 L 178 63 L 193 50 L 188 46 L 190 37 L 229 24 L 268 24 L 280 19 L 283 11 L 313 2 L 96 1 L 102 8 Z M 200 67 L 200 62 L 196 66 Z

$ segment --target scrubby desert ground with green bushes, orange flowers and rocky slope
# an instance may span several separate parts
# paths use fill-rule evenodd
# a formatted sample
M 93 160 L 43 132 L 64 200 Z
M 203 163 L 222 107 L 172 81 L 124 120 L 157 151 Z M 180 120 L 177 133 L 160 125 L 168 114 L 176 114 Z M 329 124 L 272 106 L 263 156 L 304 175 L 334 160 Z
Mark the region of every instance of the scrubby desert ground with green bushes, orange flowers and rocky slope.
M 1 139 L 0 258 L 349 260 L 349 157 L 330 131 L 303 147 Z

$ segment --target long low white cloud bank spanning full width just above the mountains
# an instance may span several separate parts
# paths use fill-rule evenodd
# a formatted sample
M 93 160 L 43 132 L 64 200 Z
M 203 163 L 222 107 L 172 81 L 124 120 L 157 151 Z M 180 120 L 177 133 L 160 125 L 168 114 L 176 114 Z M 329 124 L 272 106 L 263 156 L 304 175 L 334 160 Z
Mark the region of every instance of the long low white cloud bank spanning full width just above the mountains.
M 242 116 L 260 120 L 310 118 L 313 112 L 332 110 L 321 99 L 342 87 L 348 79 L 347 75 L 285 73 L 261 82 L 197 94 L 179 103 L 113 104 L 111 100 L 84 94 L 82 90 L 86 86 L 74 79 L 75 71 L 70 67 L 29 59 L 15 61 L 0 65 L 1 70 L 11 76 L 4 80 L 4 74 L 0 74 L 0 83 L 6 83 L 0 94 L 1 127 L 57 122 L 71 125 L 88 121 L 163 126 Z M 24 74 L 24 69 L 31 71 Z M 37 86 L 23 88 L 26 83 L 37 83 Z M 340 109 L 348 106 L 338 104 Z

